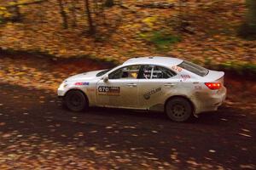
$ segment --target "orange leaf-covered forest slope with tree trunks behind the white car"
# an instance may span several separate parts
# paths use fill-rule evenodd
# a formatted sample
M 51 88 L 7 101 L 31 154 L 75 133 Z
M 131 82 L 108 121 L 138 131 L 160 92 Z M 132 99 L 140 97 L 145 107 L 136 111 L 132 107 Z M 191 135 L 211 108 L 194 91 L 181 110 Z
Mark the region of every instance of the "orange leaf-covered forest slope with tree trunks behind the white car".
M 2 49 L 115 62 L 167 55 L 255 70 L 256 42 L 237 33 L 245 26 L 253 35 L 247 15 L 255 12 L 241 0 L 0 0 L 0 6 Z

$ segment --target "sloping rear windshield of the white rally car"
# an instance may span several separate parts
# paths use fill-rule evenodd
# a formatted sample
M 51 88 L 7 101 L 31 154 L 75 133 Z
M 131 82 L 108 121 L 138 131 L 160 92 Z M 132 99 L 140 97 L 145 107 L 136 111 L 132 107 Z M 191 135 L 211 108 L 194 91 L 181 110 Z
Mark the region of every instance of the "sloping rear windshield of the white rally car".
M 187 71 L 193 72 L 198 76 L 205 77 L 208 74 L 208 70 L 200 65 L 195 65 L 189 61 L 183 61 L 181 64 L 177 65 Z

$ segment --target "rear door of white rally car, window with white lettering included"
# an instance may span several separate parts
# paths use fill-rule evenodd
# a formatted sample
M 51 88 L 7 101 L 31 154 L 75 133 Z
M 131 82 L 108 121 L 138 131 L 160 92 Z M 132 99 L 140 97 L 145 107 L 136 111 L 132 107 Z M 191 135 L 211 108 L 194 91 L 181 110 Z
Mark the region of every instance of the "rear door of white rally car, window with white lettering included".
M 139 74 L 138 104 L 144 108 L 163 106 L 177 88 L 176 73 L 160 65 L 143 65 Z M 154 109 L 153 109 L 154 110 Z

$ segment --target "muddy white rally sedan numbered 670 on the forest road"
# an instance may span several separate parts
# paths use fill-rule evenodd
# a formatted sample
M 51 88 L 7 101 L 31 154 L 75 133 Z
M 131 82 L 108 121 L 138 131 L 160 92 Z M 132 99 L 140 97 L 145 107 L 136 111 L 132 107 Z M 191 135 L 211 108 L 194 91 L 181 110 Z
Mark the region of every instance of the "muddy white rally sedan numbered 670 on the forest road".
M 142 57 L 110 70 L 67 78 L 58 96 L 71 111 L 89 106 L 166 111 L 176 122 L 203 111 L 216 111 L 226 97 L 224 72 L 183 59 Z

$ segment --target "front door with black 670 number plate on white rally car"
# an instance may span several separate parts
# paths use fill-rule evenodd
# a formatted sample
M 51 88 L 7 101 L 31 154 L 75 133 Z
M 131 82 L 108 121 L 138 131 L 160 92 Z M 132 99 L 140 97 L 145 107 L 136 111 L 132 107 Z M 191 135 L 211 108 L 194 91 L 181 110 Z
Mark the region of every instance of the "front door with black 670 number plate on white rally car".
M 97 105 L 119 108 L 137 108 L 137 76 L 140 65 L 119 68 L 108 75 L 108 82 L 96 85 Z

